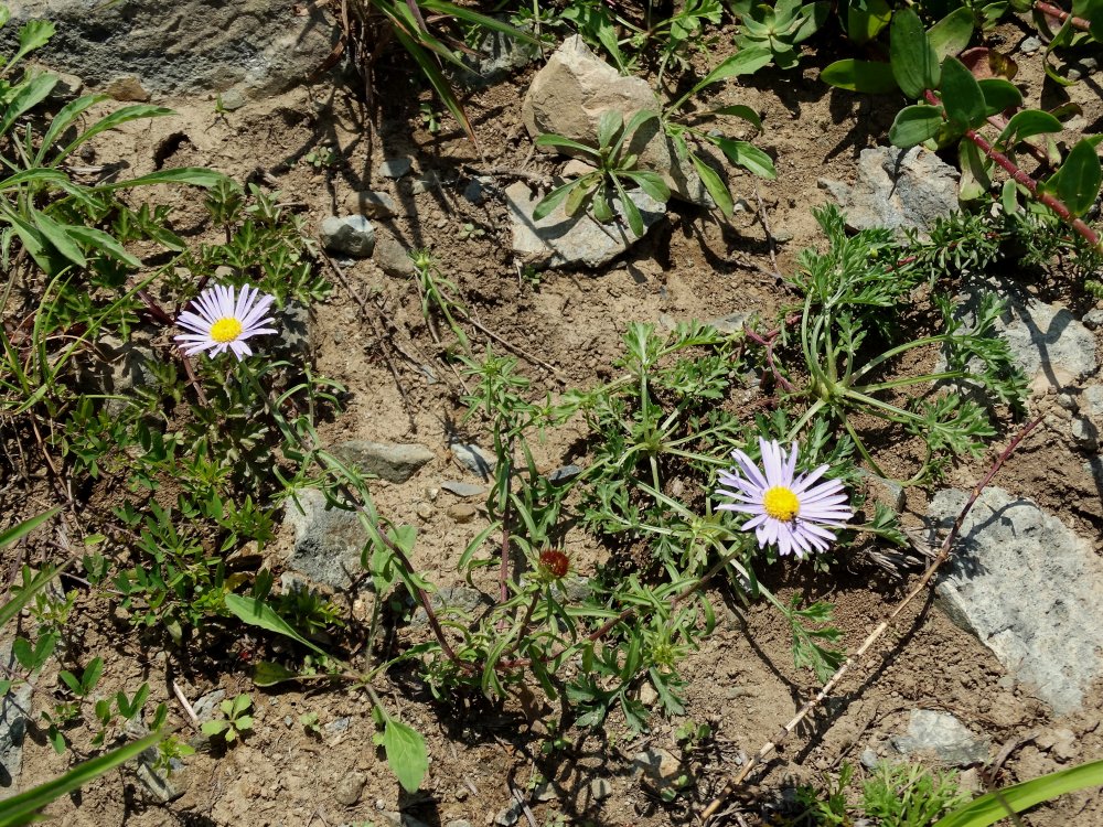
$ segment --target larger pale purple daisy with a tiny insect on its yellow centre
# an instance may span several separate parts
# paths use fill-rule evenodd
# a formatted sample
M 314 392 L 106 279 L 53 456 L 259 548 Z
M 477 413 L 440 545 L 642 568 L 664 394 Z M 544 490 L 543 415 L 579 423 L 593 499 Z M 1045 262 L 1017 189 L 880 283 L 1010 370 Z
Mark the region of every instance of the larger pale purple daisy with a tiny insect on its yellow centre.
M 843 528 L 854 516 L 838 480 L 813 485 L 827 471 L 821 465 L 810 474 L 796 474 L 796 443 L 786 454 L 777 441 L 759 438 L 762 470 L 742 451 L 732 451 L 736 468 L 720 472 L 717 494 L 736 500 L 718 505 L 721 511 L 750 514 L 743 530 L 752 528 L 759 548 L 777 544 L 783 557 L 803 558 L 813 551 L 826 551 L 835 540 L 828 528 Z

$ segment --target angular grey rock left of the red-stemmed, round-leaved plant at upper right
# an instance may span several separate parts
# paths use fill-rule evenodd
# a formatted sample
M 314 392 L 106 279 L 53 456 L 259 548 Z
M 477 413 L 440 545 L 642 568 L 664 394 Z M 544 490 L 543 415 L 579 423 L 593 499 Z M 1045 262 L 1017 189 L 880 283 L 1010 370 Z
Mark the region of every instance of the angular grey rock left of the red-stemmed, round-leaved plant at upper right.
M 957 211 L 957 170 L 921 147 L 864 149 L 853 185 L 821 179 L 846 213 L 852 229 L 889 227 L 927 230 Z M 900 234 L 902 235 L 902 233 Z

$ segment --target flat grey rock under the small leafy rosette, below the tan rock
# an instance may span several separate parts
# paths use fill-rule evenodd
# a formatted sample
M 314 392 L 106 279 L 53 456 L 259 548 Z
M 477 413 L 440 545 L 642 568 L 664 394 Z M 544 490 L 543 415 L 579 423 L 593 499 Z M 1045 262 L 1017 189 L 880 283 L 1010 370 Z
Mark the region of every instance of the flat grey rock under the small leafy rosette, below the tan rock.
M 665 204 L 640 190 L 628 195 L 640 210 L 645 233 L 666 214 Z M 506 210 L 513 226 L 513 249 L 533 267 L 598 268 L 640 240 L 632 235 L 624 218 L 624 207 L 615 198 L 613 208 L 619 219 L 609 224 L 600 224 L 581 212 L 568 217 L 563 204 L 536 221 L 533 211 L 539 202 L 540 198 L 522 181 L 505 190 Z

